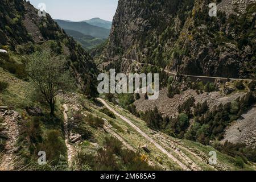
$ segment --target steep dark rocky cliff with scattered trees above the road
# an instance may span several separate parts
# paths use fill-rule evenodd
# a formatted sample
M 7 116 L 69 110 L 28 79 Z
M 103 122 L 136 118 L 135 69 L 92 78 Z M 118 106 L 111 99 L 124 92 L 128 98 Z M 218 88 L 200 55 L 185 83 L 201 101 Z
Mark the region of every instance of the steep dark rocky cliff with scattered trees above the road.
M 189 75 L 252 77 L 254 0 L 119 0 L 105 56 L 123 56 Z

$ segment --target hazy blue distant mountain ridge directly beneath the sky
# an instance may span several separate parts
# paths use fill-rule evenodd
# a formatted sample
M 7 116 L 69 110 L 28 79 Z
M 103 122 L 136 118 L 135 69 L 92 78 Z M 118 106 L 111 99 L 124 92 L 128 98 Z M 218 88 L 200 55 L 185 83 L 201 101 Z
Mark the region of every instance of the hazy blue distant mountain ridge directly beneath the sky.
M 82 34 L 90 35 L 95 38 L 107 39 L 110 30 L 102 27 L 93 26 L 86 22 L 67 22 L 65 20 L 55 20 L 63 29 L 79 31 Z

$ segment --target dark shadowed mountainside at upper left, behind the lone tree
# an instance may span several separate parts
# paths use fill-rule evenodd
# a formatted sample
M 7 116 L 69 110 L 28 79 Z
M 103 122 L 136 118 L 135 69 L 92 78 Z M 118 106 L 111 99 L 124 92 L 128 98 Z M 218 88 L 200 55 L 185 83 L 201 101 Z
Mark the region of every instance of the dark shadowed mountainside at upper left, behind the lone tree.
M 19 59 L 43 49 L 64 55 L 69 60 L 73 76 L 77 78 L 81 89 L 90 90 L 88 86 L 93 84 L 88 82 L 94 80 L 93 77 L 98 72 L 92 57 L 49 14 L 40 17 L 34 6 L 19 0 L 1 1 L 0 10 L 0 48 L 6 49 L 10 56 L 16 55 Z M 25 63 L 19 59 L 1 59 L 0 67 L 23 78 L 26 75 L 23 70 Z

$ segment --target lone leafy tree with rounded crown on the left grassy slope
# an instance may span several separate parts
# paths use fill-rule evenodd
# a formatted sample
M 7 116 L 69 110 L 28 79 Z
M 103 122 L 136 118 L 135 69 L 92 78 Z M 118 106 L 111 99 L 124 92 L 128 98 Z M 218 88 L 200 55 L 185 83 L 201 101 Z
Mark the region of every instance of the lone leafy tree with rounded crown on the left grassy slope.
M 40 92 L 54 115 L 56 96 L 71 90 L 74 85 L 67 61 L 49 52 L 35 52 L 30 56 L 27 73 L 32 87 Z

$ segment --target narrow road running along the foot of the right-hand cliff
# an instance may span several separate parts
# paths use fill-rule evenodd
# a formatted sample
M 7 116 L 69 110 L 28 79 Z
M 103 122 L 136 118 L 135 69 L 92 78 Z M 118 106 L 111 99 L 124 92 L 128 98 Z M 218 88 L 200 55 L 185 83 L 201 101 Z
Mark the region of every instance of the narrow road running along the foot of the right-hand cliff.
M 105 59 L 110 59 L 110 60 L 117 60 L 115 59 L 114 57 L 104 57 Z M 155 66 L 155 65 L 152 65 L 152 64 L 146 64 L 146 63 L 140 63 L 139 61 L 137 60 L 134 60 L 134 59 L 127 59 L 127 58 L 122 58 L 122 60 L 125 60 L 125 61 L 133 61 L 134 63 L 137 63 L 139 65 L 151 65 L 151 66 Z M 168 73 L 168 74 L 171 74 L 171 75 L 174 75 L 174 76 L 177 76 L 177 73 L 176 72 L 171 72 L 171 71 L 168 71 L 166 69 L 163 69 L 161 68 L 162 71 Z M 226 77 L 214 77 L 214 76 L 199 76 L 199 75 L 184 75 L 184 74 L 179 74 L 180 76 L 186 76 L 186 77 L 193 77 L 193 78 L 212 78 L 212 79 L 222 79 L 222 80 L 238 80 L 238 81 L 253 81 L 251 79 L 241 79 L 241 78 L 226 78 Z

